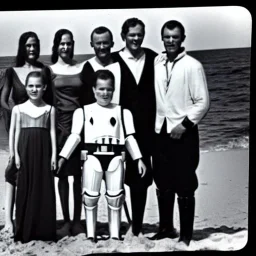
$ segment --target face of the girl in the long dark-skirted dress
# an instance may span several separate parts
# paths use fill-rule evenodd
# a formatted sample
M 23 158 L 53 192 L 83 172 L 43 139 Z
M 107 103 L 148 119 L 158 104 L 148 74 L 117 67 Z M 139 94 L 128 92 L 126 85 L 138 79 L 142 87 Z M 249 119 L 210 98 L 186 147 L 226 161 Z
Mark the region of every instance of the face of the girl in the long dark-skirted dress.
M 30 77 L 26 85 L 26 91 L 29 99 L 33 101 L 42 100 L 46 85 L 43 84 L 41 77 Z

